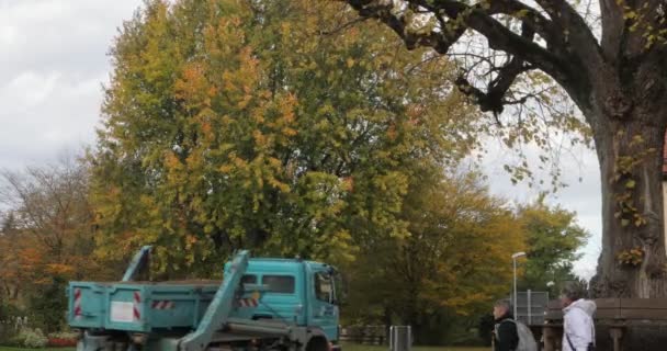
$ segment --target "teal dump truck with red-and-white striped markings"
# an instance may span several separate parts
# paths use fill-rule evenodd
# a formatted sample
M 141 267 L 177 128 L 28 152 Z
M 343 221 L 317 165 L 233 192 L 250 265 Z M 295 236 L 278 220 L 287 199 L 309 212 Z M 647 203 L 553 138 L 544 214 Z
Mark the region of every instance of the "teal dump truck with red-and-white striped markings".
M 144 247 L 120 282 L 69 283 L 67 319 L 80 330 L 77 350 L 339 349 L 339 280 L 331 265 L 240 251 L 225 264 L 222 282 L 138 281 L 149 256 Z

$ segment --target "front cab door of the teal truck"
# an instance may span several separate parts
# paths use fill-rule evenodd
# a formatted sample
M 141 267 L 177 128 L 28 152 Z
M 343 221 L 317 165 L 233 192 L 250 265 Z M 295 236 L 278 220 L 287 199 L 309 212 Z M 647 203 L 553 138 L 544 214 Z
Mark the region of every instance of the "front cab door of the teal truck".
M 321 328 L 327 339 L 338 340 L 338 306 L 331 272 L 315 271 L 313 285 L 313 325 Z

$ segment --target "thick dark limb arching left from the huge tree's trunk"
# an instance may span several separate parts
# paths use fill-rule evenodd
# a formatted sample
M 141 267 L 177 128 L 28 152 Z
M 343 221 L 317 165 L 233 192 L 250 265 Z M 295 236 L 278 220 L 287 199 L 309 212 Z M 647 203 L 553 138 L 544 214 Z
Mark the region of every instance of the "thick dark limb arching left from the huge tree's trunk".
M 632 109 L 631 103 L 623 98 L 618 70 L 604 59 L 586 21 L 565 0 L 536 0 L 551 19 L 518 0 L 495 0 L 477 4 L 456 0 L 339 1 L 348 2 L 362 16 L 387 24 L 409 48 L 429 46 L 444 54 L 463 33 L 474 31 L 487 39 L 491 49 L 504 52 L 551 76 L 583 111 L 598 110 L 599 113 L 587 113 L 588 122 L 592 125 L 598 124 L 593 120 L 601 114 L 623 116 Z M 415 19 L 409 13 L 423 13 L 425 10 L 438 19 L 441 26 L 442 23 L 445 24 L 442 32 L 415 30 L 415 26 L 419 27 L 427 21 L 428 15 L 419 18 L 421 14 L 417 14 Z M 521 34 L 501 23 L 495 18 L 497 14 L 510 15 L 520 21 Z M 452 32 L 453 29 L 456 31 Z M 535 34 L 546 41 L 546 47 L 534 42 Z M 501 80 L 502 83 L 485 94 L 507 92 L 502 86 L 507 81 L 513 82 L 516 78 L 507 72 L 508 70 L 502 77 L 507 80 Z M 496 113 L 501 111 L 497 105 L 498 98 L 487 97 L 488 99 L 490 101 L 485 109 Z

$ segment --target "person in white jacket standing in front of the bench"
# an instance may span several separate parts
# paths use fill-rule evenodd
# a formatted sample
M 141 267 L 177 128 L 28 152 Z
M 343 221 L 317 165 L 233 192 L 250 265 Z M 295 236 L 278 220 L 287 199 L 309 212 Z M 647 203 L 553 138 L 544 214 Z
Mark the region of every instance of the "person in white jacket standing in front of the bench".
M 588 351 L 595 349 L 595 324 L 592 316 L 596 303 L 583 298 L 581 290 L 569 287 L 561 296 L 563 304 L 563 351 Z

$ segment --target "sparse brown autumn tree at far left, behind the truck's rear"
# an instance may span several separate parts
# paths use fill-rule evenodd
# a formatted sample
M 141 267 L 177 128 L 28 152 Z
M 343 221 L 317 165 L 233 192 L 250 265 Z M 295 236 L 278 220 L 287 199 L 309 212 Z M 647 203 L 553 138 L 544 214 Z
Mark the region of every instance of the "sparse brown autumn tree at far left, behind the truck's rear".
M 34 257 L 48 272 L 68 278 L 97 270 L 83 264 L 94 245 L 88 181 L 88 166 L 74 156 L 0 172 L 0 202 L 8 208 L 3 237 L 7 245 L 16 246 L 8 251 L 24 259 Z M 30 252 L 21 254 L 21 250 Z M 30 271 L 19 274 L 27 279 Z

